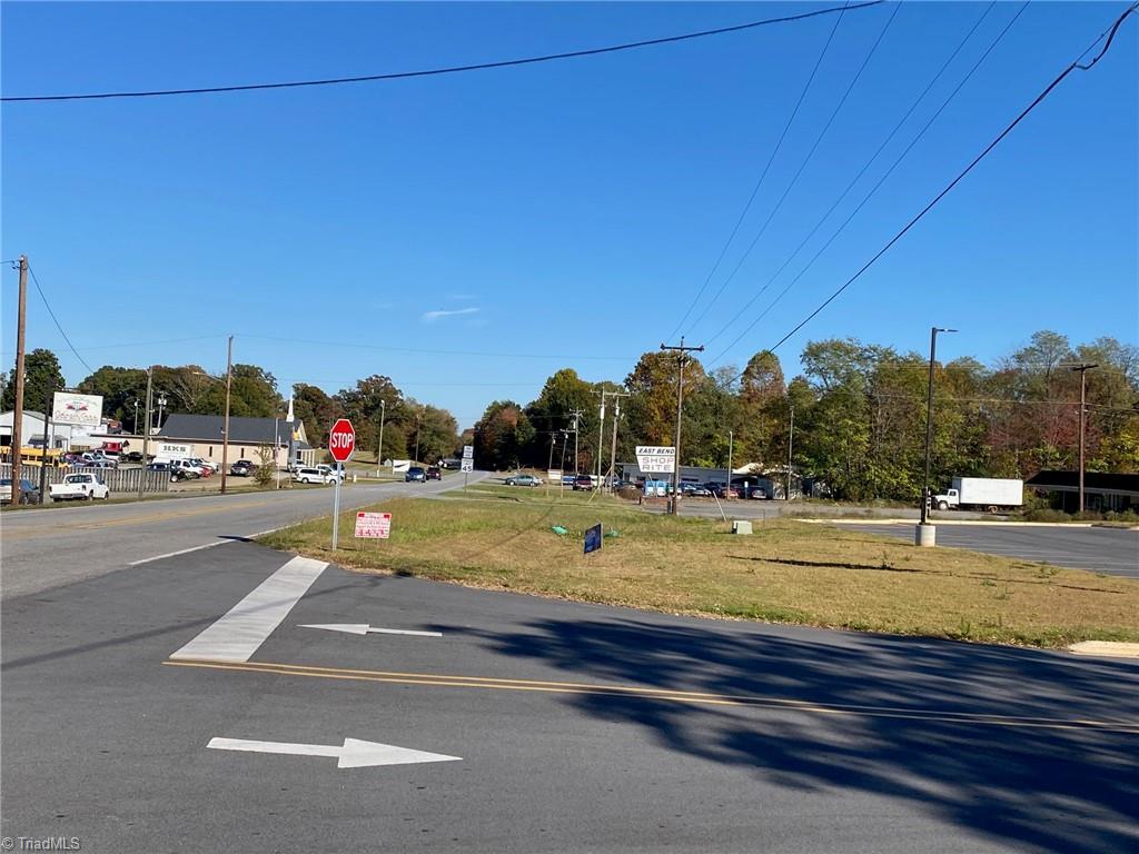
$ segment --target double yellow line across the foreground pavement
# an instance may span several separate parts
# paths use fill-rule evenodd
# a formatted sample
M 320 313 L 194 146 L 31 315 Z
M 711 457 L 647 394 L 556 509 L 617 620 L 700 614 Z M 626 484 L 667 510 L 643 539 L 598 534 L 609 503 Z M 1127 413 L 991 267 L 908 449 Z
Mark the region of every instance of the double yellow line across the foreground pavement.
M 638 685 L 606 685 L 582 682 L 548 682 L 540 680 L 494 679 L 490 676 L 454 676 L 442 673 L 399 673 L 390 671 L 364 671 L 343 667 L 317 667 L 298 664 L 274 664 L 270 662 L 211 662 L 166 660 L 173 667 L 200 667 L 206 670 L 244 671 L 273 673 L 288 676 L 313 679 L 338 679 L 361 682 L 388 682 L 398 684 L 435 685 L 446 688 L 484 688 L 505 691 L 539 691 L 548 693 L 590 693 L 611 697 L 638 697 L 646 700 L 667 700 L 713 706 L 749 706 L 780 708 L 795 712 L 827 715 L 853 715 L 867 717 L 898 717 L 911 721 L 937 723 L 960 723 L 992 726 L 1023 726 L 1057 730 L 1098 730 L 1126 734 L 1139 734 L 1139 725 L 1122 721 L 1055 720 L 1048 717 L 1017 717 L 1011 715 L 989 715 L 972 712 L 941 712 L 935 709 L 908 709 L 878 706 L 851 706 L 842 704 L 811 703 L 782 697 L 757 695 L 708 693 L 681 691 L 665 688 Z

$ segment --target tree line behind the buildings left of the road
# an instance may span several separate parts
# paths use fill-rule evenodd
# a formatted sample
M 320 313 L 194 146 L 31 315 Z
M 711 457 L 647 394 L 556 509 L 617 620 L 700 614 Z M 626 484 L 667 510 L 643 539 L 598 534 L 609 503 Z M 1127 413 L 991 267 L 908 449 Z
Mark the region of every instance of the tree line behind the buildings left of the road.
M 222 414 L 226 378 L 208 375 L 200 366 L 155 366 L 153 400 L 165 397 L 163 419 L 174 412 Z M 59 360 L 50 350 L 36 348 L 25 356 L 24 405 L 42 411 L 51 395 L 65 387 Z M 146 418 L 147 370 L 104 366 L 76 387 L 83 394 L 103 395 L 103 414 L 123 429 L 141 430 Z M 235 364 L 230 384 L 230 414 L 233 417 L 284 418 L 287 402 L 273 375 L 255 364 Z M 304 422 L 313 447 L 325 447 L 328 429 L 337 418 L 350 418 L 357 430 L 357 447 L 375 452 L 384 416 L 383 459 L 408 459 L 418 449 L 418 459 L 437 461 L 456 455 L 460 447 L 459 427 L 445 409 L 424 404 L 404 394 L 390 377 L 372 375 L 355 386 L 326 394 L 313 385 L 293 386 L 293 410 Z M 15 369 L 8 372 L 3 409 L 15 404 Z M 153 424 L 157 426 L 157 405 Z

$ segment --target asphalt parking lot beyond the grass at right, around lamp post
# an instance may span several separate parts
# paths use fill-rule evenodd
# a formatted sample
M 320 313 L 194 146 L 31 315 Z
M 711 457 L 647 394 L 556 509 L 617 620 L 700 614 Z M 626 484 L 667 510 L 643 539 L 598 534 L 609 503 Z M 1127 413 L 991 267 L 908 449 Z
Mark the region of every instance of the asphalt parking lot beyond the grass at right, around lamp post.
M 912 524 L 867 525 L 841 520 L 833 524 L 913 541 Z M 937 545 L 1139 578 L 1139 531 L 1126 528 L 997 523 L 939 525 Z

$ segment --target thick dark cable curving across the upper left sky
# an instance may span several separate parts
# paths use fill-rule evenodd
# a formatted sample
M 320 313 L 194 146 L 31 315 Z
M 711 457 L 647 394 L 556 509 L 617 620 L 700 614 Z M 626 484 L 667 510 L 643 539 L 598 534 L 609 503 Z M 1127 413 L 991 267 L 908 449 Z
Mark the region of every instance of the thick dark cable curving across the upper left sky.
M 762 20 L 753 20 L 746 24 L 737 24 L 735 26 L 716 27 L 715 30 L 702 30 L 695 33 L 669 35 L 661 39 L 645 39 L 642 41 L 624 42 L 622 44 L 611 44 L 601 48 L 571 50 L 560 54 L 546 54 L 542 56 L 523 57 L 519 59 L 501 59 L 497 61 L 476 63 L 472 65 L 452 65 L 443 68 L 428 68 L 424 71 L 390 72 L 387 74 L 367 74 L 355 77 L 328 77 L 323 80 L 297 80 L 297 81 L 278 82 L 278 83 L 251 83 L 245 85 L 199 87 L 194 89 L 154 89 L 154 90 L 142 90 L 142 91 L 131 91 L 131 92 L 89 92 L 82 95 L 33 95 L 33 96 L 0 98 L 0 101 L 10 101 L 10 102 L 77 101 L 77 100 L 107 100 L 110 98 L 157 98 L 157 97 L 178 96 L 178 95 L 215 95 L 220 92 L 251 92 L 251 91 L 260 91 L 267 89 L 300 89 L 303 87 L 326 87 L 326 85 L 341 85 L 344 83 L 372 83 L 387 80 L 407 80 L 410 77 L 431 77 L 431 76 L 439 76 L 442 74 L 460 74 L 465 72 L 486 71 L 490 68 L 507 68 L 519 65 L 535 65 L 538 63 L 550 63 L 562 59 L 577 59 L 588 56 L 599 56 L 603 54 L 616 54 L 622 50 L 650 48 L 659 44 L 673 44 L 675 42 L 690 41 L 693 39 L 704 39 L 712 35 L 738 33 L 746 30 L 754 30 L 761 26 L 770 26 L 772 24 L 787 24 L 796 20 L 805 20 L 806 18 L 813 18 L 820 15 L 831 15 L 834 13 L 842 14 L 855 9 L 866 9 L 871 6 L 878 6 L 882 2 L 884 2 L 884 0 L 869 0 L 868 2 L 857 3 L 853 6 L 846 5 L 841 7 L 839 6 L 828 7 L 826 9 L 816 9 L 814 11 L 802 13 L 798 15 L 785 15 L 778 18 L 764 18 Z

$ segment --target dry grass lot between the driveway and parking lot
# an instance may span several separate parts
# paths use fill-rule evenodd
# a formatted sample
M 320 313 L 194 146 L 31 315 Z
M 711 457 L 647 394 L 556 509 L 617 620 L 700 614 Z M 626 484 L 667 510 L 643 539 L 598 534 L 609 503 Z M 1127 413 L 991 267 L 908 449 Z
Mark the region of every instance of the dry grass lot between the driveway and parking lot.
M 401 573 L 481 588 L 670 613 L 1064 646 L 1139 641 L 1139 582 L 795 520 L 756 523 L 734 536 L 723 523 L 645 514 L 612 499 L 558 490 L 474 486 L 441 500 L 377 506 L 392 539 L 353 541 L 341 519 L 262 537 L 369 573 Z M 582 555 L 598 522 L 617 536 Z M 565 536 L 552 525 L 568 529 Z

